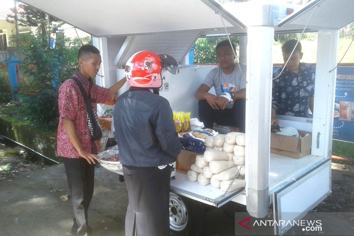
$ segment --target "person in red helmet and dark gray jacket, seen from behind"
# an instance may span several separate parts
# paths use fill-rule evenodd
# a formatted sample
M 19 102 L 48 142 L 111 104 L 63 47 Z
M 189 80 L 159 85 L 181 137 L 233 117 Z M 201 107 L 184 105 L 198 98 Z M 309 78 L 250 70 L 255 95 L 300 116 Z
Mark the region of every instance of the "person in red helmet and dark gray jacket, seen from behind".
M 170 235 L 170 164 L 182 148 L 170 104 L 158 95 L 158 88 L 161 69 L 177 73 L 178 65 L 167 63 L 169 55 L 161 57 L 142 51 L 128 60 L 125 73 L 131 87 L 118 98 L 113 112 L 129 196 L 126 236 Z

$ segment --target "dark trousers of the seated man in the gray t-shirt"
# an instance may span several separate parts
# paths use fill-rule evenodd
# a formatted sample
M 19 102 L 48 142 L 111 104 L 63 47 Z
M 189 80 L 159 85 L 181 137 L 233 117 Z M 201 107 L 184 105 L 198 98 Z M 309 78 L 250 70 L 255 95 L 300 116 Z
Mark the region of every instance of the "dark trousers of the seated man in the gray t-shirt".
M 218 125 L 236 126 L 240 132 L 245 132 L 246 124 L 246 99 L 235 100 L 232 108 L 212 109 L 206 100 L 198 102 L 199 120 L 206 128 L 213 128 L 213 123 Z

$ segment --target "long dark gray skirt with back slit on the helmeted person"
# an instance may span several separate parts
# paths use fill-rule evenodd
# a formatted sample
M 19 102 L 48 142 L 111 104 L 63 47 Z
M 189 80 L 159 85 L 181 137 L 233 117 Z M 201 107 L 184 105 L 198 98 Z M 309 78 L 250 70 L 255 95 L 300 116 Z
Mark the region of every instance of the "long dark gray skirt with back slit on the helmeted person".
M 171 168 L 123 166 L 129 204 L 125 236 L 169 236 Z

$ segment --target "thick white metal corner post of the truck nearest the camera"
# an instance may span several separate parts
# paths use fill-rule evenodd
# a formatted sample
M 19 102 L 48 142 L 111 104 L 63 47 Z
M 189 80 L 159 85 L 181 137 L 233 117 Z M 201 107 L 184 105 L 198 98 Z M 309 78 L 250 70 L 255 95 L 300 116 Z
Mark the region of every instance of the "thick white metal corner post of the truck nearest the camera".
M 273 26 L 247 28 L 246 199 L 247 211 L 257 218 L 269 211 L 273 38 Z

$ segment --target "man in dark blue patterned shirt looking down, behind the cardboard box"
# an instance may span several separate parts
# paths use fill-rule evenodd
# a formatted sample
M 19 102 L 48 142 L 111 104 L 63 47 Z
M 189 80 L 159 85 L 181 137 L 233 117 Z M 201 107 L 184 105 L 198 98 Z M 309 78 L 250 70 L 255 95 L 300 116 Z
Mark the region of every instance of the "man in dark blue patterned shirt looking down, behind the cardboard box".
M 297 40 L 292 39 L 281 47 L 284 63 L 290 57 L 296 42 Z M 283 65 L 273 74 L 272 125 L 279 124 L 275 114 L 309 117 L 309 108 L 313 113 L 315 74 L 312 65 L 300 63 L 302 55 L 299 42 L 284 71 L 280 74 Z

